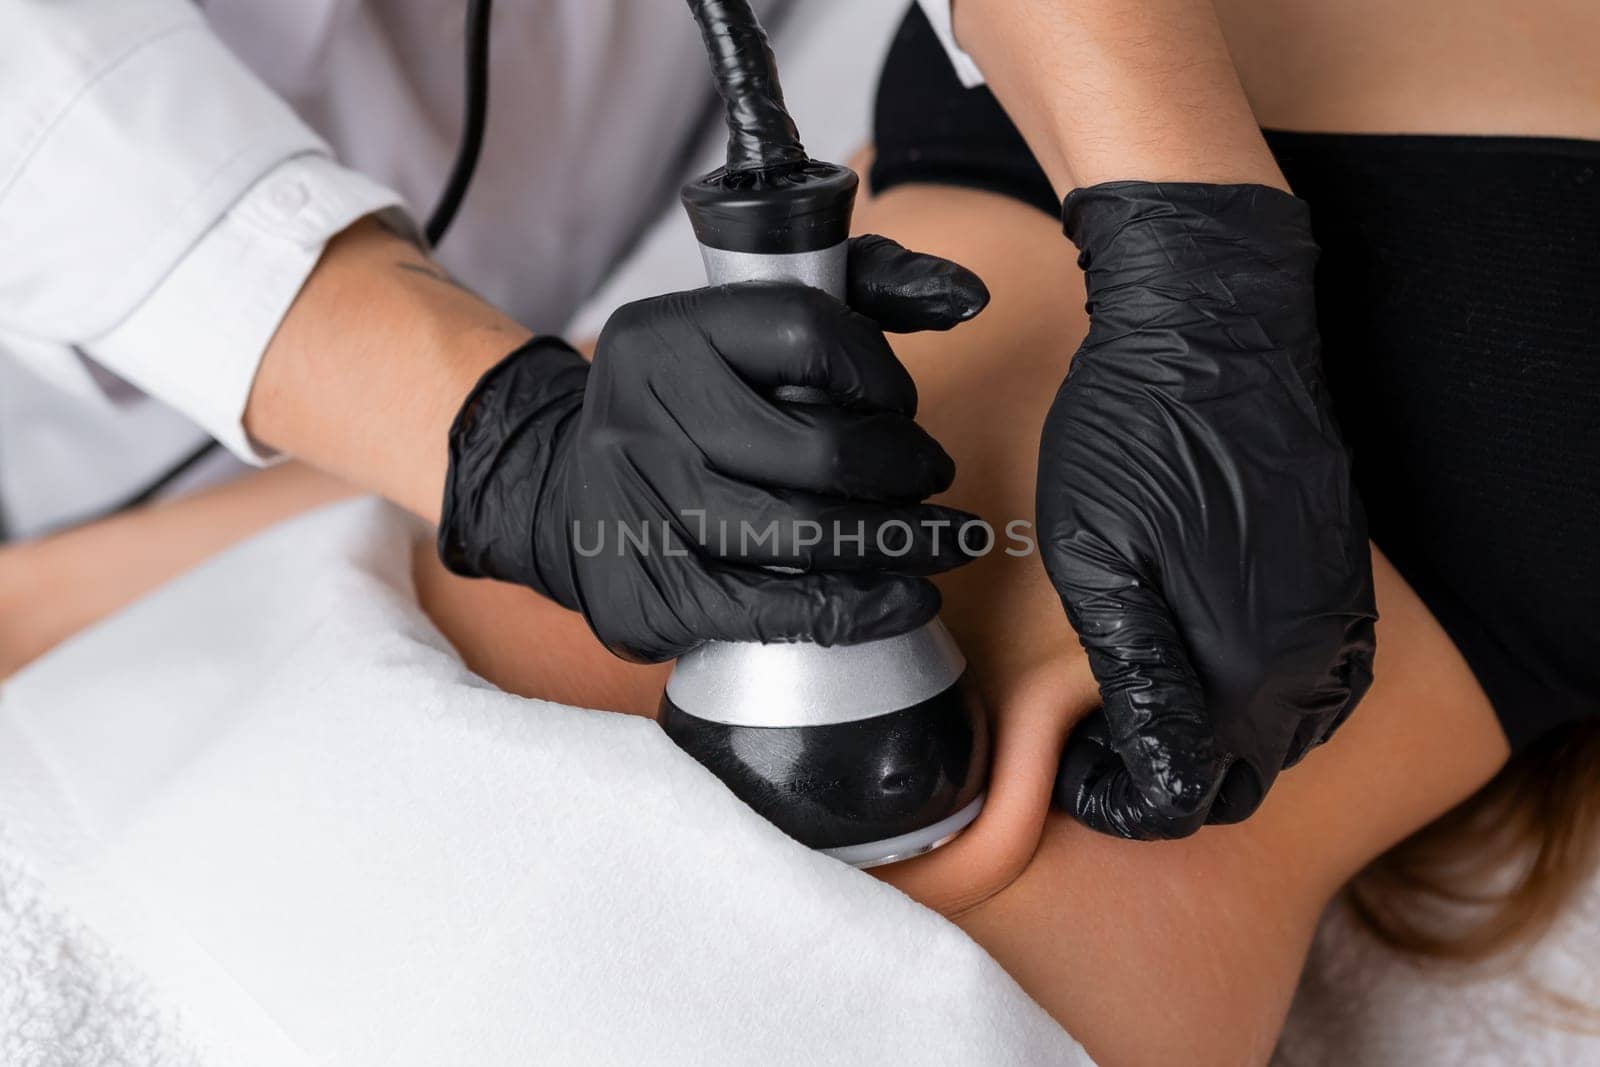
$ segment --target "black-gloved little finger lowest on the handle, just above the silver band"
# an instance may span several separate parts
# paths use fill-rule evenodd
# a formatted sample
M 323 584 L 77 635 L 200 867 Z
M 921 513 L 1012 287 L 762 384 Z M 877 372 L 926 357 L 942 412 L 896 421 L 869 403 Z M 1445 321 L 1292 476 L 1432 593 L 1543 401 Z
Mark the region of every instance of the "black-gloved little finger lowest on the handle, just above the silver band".
M 859 645 L 909 633 L 939 614 L 939 590 L 904 574 L 701 571 L 706 640 Z

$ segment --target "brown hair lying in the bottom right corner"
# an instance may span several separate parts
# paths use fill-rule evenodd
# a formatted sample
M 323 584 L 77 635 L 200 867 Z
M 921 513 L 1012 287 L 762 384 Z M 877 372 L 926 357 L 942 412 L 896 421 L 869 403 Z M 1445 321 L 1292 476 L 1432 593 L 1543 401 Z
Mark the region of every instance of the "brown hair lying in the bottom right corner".
M 1562 728 L 1350 883 L 1386 945 L 1482 961 L 1533 945 L 1600 861 L 1600 723 Z

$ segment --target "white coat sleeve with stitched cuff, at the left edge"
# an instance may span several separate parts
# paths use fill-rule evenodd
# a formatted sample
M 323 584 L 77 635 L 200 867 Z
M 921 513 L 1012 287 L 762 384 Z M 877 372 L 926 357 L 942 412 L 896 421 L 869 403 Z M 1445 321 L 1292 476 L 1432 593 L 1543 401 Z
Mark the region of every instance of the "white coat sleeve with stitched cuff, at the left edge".
M 189 0 L 0 0 L 0 347 L 86 355 L 250 462 L 256 366 L 330 237 L 397 208 Z

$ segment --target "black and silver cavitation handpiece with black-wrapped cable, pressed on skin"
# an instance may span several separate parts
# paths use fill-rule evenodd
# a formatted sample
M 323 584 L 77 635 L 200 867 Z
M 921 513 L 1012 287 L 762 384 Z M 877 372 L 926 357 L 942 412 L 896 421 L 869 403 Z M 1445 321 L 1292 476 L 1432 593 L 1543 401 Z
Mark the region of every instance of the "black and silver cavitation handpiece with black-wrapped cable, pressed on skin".
M 728 165 L 683 189 L 707 278 L 843 299 L 856 174 L 806 157 L 747 0 L 690 8 L 728 106 Z M 778 397 L 829 403 L 802 389 Z M 790 837 L 870 867 L 938 848 L 982 806 L 989 734 L 965 673 L 938 619 L 834 648 L 710 643 L 678 659 L 661 725 Z

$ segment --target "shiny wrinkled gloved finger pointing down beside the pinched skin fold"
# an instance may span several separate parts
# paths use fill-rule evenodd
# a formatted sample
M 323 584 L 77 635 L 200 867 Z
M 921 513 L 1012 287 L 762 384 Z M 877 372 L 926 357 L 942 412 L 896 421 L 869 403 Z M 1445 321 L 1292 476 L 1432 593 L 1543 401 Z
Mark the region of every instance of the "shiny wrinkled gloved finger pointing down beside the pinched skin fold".
M 1101 686 L 1110 745 L 1149 811 L 1203 819 L 1226 765 L 1178 624 L 1138 579 L 1096 569 L 1090 581 L 1064 603 Z

